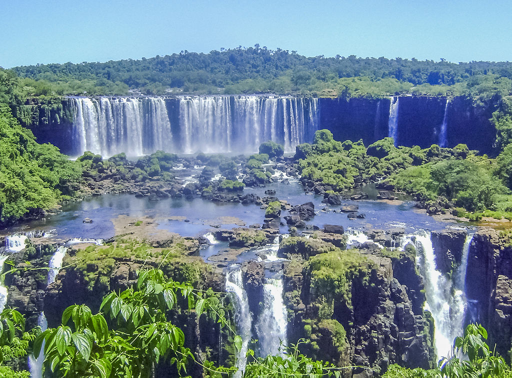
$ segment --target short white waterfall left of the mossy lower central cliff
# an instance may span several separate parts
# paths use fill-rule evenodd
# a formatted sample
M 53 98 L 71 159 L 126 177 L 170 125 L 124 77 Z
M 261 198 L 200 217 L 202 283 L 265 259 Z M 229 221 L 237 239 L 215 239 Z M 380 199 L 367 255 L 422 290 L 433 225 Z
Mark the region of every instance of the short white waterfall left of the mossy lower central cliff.
M 282 278 L 267 278 L 263 284 L 262 312 L 256 324 L 260 341 L 260 356 L 279 353 L 286 342 L 287 315 L 283 303 Z

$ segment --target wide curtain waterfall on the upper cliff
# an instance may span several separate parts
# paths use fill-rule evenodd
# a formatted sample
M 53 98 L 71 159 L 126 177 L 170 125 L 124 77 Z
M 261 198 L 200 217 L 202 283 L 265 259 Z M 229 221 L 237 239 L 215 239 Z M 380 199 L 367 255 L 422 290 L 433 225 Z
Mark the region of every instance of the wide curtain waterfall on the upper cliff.
M 168 105 L 168 103 L 174 105 Z M 257 152 L 273 140 L 293 152 L 318 129 L 317 99 L 274 96 L 68 97 L 75 155 Z M 174 124 L 171 125 L 170 120 Z

